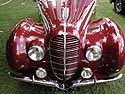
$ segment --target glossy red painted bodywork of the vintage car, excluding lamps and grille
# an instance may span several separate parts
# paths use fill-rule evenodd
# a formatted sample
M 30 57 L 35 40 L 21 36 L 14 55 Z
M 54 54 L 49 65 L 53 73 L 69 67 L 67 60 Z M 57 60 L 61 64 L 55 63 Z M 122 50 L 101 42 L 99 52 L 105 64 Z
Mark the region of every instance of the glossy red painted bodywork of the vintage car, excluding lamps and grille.
M 90 79 L 94 79 L 94 77 L 96 79 L 109 78 L 111 74 L 119 72 L 124 65 L 125 59 L 125 39 L 119 26 L 109 18 L 91 21 L 96 0 L 69 0 L 67 4 L 64 1 L 56 0 L 56 6 L 54 6 L 54 1 L 43 2 L 38 0 L 43 24 L 35 23 L 32 19 L 24 19 L 12 30 L 6 51 L 10 67 L 16 72 L 27 73 L 30 75 L 29 77 L 35 75 L 35 71 L 42 67 L 48 73 L 44 79 L 49 81 L 57 80 L 63 84 L 79 79 L 84 80 L 81 77 L 83 68 L 92 69 L 93 76 Z M 64 78 L 59 76 L 59 73 L 62 73 L 59 70 L 56 71 L 57 75 L 55 74 L 53 66 L 63 69 L 62 61 L 51 56 L 52 53 L 57 56 L 63 56 L 64 53 L 52 51 L 50 48 L 56 47 L 57 50 L 61 49 L 63 46 L 51 44 L 51 40 L 55 40 L 53 38 L 57 36 L 65 36 L 65 34 L 69 35 L 70 38 L 74 36 L 79 40 L 77 42 L 79 43 L 79 51 L 66 53 L 67 57 L 78 53 L 77 64 L 67 66 L 68 61 L 63 62 L 63 67 L 66 67 L 66 69 L 76 67 L 73 71 L 64 70 L 66 73 L 73 73 L 70 76 L 65 75 L 67 78 L 70 78 L 68 80 L 64 76 Z M 61 41 L 65 44 L 63 40 L 58 38 L 56 41 Z M 68 40 L 67 36 L 66 42 L 68 43 L 69 41 L 71 40 Z M 35 62 L 28 57 L 28 49 L 33 45 L 44 49 L 45 57 L 43 60 Z M 69 47 L 68 49 L 72 49 L 75 46 L 73 44 L 65 45 Z M 86 59 L 85 53 L 87 48 L 93 45 L 101 48 L 102 57 L 98 61 L 90 62 Z M 54 65 L 51 62 L 52 59 L 60 62 Z M 63 78 L 63 80 L 59 78 Z

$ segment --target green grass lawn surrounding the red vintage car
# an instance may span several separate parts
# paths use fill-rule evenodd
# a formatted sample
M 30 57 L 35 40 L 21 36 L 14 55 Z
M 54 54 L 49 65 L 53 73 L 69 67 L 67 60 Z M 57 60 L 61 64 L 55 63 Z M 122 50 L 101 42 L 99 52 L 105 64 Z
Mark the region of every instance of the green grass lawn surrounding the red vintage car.
M 0 4 L 8 0 L 0 0 Z M 23 0 L 13 0 L 11 3 L 0 6 L 0 94 L 72 94 L 72 92 L 51 92 L 49 87 L 32 85 L 12 79 L 8 72 L 11 71 L 5 56 L 5 45 L 11 29 L 23 18 L 33 18 L 38 21 L 38 10 L 32 0 L 26 0 L 25 5 L 21 5 Z M 125 15 L 116 14 L 113 5 L 109 0 L 98 0 L 96 19 L 109 17 L 115 20 L 125 34 Z M 122 73 L 125 75 L 125 68 Z M 125 94 L 125 76 L 114 82 L 102 83 L 98 85 L 83 86 L 80 92 L 75 94 Z

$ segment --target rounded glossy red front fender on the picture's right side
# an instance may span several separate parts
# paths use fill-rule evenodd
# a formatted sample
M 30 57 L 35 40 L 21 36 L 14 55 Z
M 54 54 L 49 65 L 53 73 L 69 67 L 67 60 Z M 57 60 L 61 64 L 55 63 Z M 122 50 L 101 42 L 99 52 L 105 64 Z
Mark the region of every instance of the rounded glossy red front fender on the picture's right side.
M 125 38 L 114 21 L 104 18 L 89 24 L 85 49 L 92 45 L 102 49 L 101 59 L 89 62 L 94 72 L 107 75 L 122 69 L 125 58 Z

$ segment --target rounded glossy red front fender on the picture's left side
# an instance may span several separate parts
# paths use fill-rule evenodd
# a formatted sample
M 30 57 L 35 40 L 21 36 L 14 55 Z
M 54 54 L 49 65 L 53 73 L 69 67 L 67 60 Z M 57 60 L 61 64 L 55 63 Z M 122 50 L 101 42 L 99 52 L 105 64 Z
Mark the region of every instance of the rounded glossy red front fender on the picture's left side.
M 14 71 L 25 72 L 31 67 L 37 67 L 41 62 L 34 64 L 27 55 L 30 46 L 38 45 L 45 48 L 46 33 L 40 24 L 32 19 L 24 19 L 12 30 L 7 41 L 6 56 L 9 65 Z

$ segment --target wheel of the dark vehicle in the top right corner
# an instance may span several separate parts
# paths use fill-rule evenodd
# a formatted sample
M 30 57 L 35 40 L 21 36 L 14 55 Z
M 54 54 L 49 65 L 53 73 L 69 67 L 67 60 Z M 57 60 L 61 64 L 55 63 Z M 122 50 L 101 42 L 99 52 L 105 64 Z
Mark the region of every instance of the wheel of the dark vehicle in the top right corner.
M 122 0 L 116 0 L 114 2 L 114 9 L 115 9 L 115 12 L 117 13 L 123 13 L 123 3 L 122 3 Z

